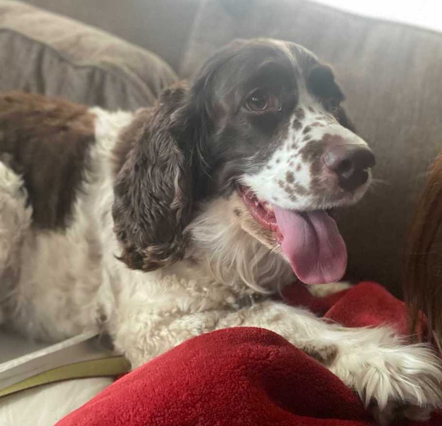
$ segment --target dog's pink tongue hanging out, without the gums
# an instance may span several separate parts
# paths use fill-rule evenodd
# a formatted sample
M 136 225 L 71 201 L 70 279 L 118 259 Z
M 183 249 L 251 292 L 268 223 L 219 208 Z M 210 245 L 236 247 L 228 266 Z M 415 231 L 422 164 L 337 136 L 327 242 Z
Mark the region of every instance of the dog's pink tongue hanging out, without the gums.
M 336 222 L 325 211 L 297 213 L 273 206 L 282 250 L 306 284 L 339 281 L 347 268 L 347 249 Z

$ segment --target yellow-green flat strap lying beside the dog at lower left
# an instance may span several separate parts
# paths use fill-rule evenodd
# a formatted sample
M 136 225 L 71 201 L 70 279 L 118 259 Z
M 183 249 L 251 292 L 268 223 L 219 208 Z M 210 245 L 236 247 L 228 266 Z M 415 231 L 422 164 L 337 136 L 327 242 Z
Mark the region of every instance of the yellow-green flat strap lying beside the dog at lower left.
M 32 376 L 0 390 L 0 397 L 14 394 L 35 386 L 68 379 L 118 376 L 130 371 L 130 363 L 123 356 L 106 357 L 80 363 L 63 365 Z

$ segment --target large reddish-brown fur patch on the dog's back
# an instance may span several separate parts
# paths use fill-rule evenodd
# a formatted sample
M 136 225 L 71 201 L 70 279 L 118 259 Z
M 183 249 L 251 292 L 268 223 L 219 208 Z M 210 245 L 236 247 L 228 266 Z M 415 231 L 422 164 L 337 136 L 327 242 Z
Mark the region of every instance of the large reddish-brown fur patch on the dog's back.
M 0 155 L 22 174 L 32 224 L 67 225 L 95 142 L 95 116 L 63 99 L 9 92 L 0 94 Z

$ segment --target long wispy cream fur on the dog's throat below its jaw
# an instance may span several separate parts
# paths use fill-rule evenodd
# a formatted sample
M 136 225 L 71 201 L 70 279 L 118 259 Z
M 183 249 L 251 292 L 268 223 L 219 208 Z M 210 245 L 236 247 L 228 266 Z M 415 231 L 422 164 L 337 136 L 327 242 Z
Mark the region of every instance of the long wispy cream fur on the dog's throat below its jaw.
M 191 243 L 184 262 L 208 282 L 233 294 L 272 294 L 296 279 L 290 265 L 253 237 L 238 216 L 236 194 L 205 204 L 190 224 Z

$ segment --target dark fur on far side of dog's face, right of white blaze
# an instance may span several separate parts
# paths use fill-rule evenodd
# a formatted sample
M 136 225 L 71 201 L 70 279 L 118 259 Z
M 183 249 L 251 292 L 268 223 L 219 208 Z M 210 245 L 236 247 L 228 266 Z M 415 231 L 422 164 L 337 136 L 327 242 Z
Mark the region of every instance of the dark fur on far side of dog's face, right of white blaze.
M 341 102 L 345 100 L 345 96 L 335 81 L 333 71 L 329 65 L 316 64 L 308 73 L 307 85 L 313 95 L 325 102 L 332 103 L 333 115 L 341 126 L 356 133 L 355 126 L 347 117 L 347 113 L 341 105 Z

